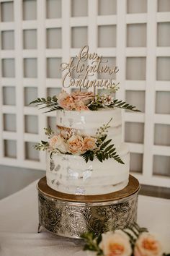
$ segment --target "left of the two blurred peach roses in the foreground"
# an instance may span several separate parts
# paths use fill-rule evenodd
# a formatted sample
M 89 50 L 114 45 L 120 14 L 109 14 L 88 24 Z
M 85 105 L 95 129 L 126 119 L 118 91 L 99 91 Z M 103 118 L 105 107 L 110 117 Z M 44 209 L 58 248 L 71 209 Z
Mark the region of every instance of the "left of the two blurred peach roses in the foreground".
M 130 256 L 132 254 L 129 237 L 121 230 L 102 234 L 102 242 L 99 247 L 104 256 Z

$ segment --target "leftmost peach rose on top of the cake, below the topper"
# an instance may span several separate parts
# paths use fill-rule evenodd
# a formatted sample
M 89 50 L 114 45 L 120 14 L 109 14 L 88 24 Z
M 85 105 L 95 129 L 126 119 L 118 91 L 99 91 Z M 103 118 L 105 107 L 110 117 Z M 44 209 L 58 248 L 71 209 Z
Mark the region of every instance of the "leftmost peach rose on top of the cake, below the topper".
M 66 110 L 73 110 L 76 108 L 73 97 L 66 93 L 65 90 L 62 90 L 61 93 L 59 93 L 58 104 Z

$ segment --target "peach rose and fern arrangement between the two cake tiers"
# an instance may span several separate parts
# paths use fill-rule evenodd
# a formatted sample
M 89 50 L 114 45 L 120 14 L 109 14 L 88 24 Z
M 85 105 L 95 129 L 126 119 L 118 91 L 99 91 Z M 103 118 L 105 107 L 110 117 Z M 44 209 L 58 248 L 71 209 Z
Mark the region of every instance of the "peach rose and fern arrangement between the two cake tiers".
M 41 141 L 35 145 L 36 150 L 47 150 L 51 154 L 61 153 L 69 155 L 80 155 L 86 163 L 93 161 L 96 157 L 100 162 L 113 158 L 118 163 L 123 163 L 120 155 L 117 154 L 112 139 L 107 140 L 110 119 L 107 124 L 99 127 L 95 137 L 83 135 L 77 129 L 58 127 L 57 134 L 49 127 L 45 128 L 45 135 L 49 141 Z

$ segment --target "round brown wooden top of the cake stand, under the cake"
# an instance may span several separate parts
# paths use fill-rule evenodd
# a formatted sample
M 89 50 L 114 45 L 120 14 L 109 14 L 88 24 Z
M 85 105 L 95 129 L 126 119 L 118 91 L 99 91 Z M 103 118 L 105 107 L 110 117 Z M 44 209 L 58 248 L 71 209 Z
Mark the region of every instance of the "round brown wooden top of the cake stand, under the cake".
M 138 179 L 135 179 L 132 175 L 129 176 L 128 185 L 117 192 L 105 194 L 105 195 L 71 195 L 62 192 L 55 191 L 48 187 L 46 176 L 40 179 L 37 184 L 37 189 L 42 194 L 52 197 L 55 200 L 69 201 L 69 202 L 109 202 L 115 200 L 121 200 L 123 198 L 130 197 L 131 195 L 138 192 L 140 184 Z

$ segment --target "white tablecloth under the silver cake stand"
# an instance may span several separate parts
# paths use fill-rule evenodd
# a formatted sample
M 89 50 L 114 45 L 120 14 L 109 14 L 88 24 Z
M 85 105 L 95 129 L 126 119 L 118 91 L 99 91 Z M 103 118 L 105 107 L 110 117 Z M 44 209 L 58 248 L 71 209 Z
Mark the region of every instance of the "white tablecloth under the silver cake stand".
M 79 240 L 37 234 L 36 182 L 0 200 L 0 256 L 84 256 Z M 157 233 L 170 252 L 170 200 L 139 196 L 138 224 Z

